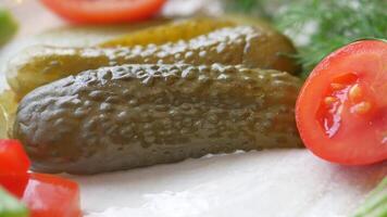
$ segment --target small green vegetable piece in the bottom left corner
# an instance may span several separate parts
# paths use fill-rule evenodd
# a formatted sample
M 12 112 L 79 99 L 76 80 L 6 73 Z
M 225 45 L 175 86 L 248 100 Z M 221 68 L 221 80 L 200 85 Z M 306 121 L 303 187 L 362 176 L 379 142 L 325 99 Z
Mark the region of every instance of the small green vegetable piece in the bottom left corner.
M 28 209 L 0 187 L 0 216 L 1 217 L 27 217 Z

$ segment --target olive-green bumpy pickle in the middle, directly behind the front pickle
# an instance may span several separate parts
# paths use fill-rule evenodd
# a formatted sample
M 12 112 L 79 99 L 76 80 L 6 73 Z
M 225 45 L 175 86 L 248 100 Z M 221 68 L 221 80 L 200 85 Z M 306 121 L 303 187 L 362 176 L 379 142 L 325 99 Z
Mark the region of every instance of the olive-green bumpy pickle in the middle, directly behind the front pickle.
M 251 26 L 238 26 L 162 46 L 112 49 L 35 47 L 10 62 L 7 76 L 21 99 L 37 87 L 68 75 L 122 64 L 221 63 L 291 74 L 298 72 L 298 65 L 280 53 L 295 53 L 286 37 Z

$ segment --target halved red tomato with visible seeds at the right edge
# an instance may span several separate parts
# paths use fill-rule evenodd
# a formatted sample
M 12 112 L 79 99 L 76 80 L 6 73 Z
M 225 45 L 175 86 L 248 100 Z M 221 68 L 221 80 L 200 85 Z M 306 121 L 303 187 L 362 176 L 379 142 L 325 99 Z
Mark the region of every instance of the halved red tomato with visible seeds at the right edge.
M 345 165 L 387 159 L 387 42 L 363 40 L 325 58 L 296 106 L 304 144 Z

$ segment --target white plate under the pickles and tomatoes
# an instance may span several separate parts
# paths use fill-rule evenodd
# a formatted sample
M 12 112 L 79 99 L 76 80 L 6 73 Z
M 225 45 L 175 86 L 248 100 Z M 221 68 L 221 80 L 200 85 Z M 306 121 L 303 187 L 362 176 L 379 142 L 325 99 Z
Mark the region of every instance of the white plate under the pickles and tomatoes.
M 61 28 L 37 37 L 63 23 L 35 1 L 14 11 L 22 28 L 0 51 L 0 68 L 30 44 L 92 44 L 123 30 Z M 79 182 L 83 208 L 90 217 L 327 217 L 347 216 L 386 175 L 387 163 L 345 167 L 307 150 L 277 150 L 67 177 Z

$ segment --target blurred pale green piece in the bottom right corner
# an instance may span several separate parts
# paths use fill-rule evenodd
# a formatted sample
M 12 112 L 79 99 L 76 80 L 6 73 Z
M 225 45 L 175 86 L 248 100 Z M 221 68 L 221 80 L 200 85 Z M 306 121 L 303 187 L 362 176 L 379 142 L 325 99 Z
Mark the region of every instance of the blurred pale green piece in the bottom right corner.
M 353 217 L 387 217 L 387 177 L 371 192 Z

